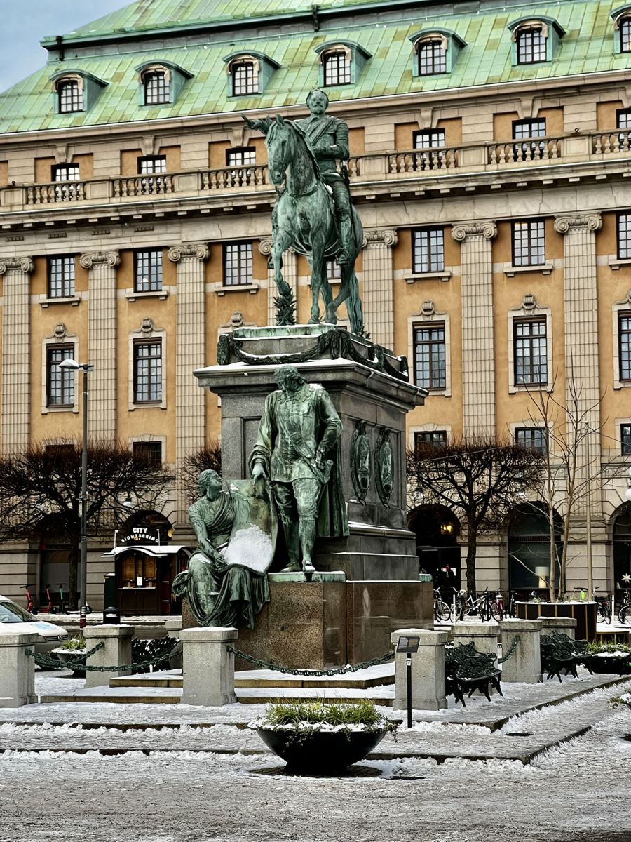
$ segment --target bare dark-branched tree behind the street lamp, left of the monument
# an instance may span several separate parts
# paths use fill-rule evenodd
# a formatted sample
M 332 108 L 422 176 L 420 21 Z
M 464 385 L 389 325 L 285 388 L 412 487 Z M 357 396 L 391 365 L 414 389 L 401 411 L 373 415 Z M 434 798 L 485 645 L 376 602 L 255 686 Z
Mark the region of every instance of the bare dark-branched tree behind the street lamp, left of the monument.
M 67 541 L 72 607 L 77 606 L 81 541 L 81 450 L 76 441 L 67 440 L 33 445 L 0 459 L 0 539 Z M 88 533 L 98 534 L 118 517 L 123 495 L 134 494 L 143 508 L 160 506 L 172 478 L 162 466 L 123 445 L 102 442 L 88 447 Z

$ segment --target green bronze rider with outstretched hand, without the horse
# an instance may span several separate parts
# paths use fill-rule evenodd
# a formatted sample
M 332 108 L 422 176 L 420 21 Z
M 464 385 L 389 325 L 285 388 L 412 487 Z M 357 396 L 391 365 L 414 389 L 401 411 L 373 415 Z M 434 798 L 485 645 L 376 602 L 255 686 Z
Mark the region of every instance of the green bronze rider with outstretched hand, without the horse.
M 351 258 L 353 241 L 353 224 L 351 222 L 351 196 L 347 183 L 337 172 L 337 161 L 347 161 L 348 125 L 338 117 L 326 114 L 329 98 L 320 88 L 315 88 L 307 97 L 307 107 L 310 116 L 304 120 L 295 120 L 295 124 L 309 139 L 311 149 L 320 168 L 322 181 L 331 189 L 335 205 L 337 224 L 340 230 L 340 251 L 337 254 L 337 264 L 348 264 Z M 251 129 L 261 131 L 267 135 L 271 120 L 246 120 Z

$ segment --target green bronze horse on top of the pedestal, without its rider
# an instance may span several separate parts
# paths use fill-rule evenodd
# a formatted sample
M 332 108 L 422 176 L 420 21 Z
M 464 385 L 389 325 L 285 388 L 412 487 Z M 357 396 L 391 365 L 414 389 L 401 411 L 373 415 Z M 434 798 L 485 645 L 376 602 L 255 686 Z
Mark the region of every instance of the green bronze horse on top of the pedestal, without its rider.
M 252 121 L 253 123 L 253 121 Z M 324 322 L 337 324 L 337 308 L 346 302 L 348 318 L 353 333 L 365 334 L 362 304 L 359 299 L 355 261 L 362 248 L 363 228 L 357 210 L 351 207 L 353 237 L 347 244 L 349 259 L 340 266 L 342 276 L 337 296 L 333 298 L 326 275 L 326 260 L 340 250 L 340 238 L 331 190 L 321 179 L 320 168 L 310 142 L 300 125 L 276 115 L 274 120 L 257 127 L 265 132 L 268 148 L 268 169 L 272 183 L 279 193 L 272 215 L 272 263 L 274 280 L 278 287 L 278 323 L 293 322 L 293 296 L 282 274 L 283 252 L 294 248 L 304 254 L 311 268 L 310 324 L 317 324 L 320 317 L 320 296 L 325 306 Z M 289 302 L 289 316 L 288 313 Z

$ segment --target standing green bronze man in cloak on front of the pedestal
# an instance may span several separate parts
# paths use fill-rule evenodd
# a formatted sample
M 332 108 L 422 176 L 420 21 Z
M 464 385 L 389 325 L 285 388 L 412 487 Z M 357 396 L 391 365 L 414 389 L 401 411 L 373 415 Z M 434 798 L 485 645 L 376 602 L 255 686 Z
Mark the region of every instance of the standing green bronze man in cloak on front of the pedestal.
M 293 365 L 276 374 L 250 456 L 252 479 L 271 482 L 289 556 L 287 572 L 313 573 L 315 536 L 346 536 L 339 438 L 342 422 L 322 386 Z M 301 558 L 300 558 L 301 554 Z

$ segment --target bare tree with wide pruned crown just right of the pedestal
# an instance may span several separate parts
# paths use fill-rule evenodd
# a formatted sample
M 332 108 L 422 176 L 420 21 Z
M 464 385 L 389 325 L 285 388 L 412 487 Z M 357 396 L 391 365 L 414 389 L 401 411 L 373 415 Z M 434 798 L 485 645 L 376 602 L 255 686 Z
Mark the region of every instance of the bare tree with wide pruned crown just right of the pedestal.
M 494 439 L 464 438 L 440 450 L 408 451 L 408 479 L 423 502 L 452 509 L 467 526 L 469 594 L 475 594 L 478 537 L 505 524 L 541 467 L 536 450 Z

